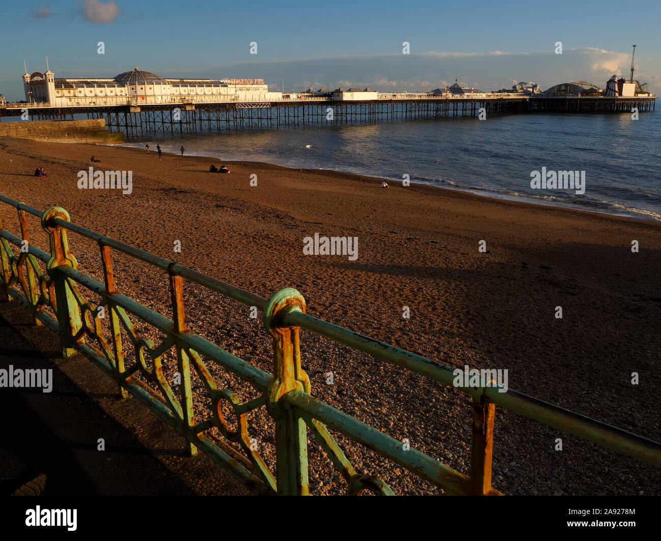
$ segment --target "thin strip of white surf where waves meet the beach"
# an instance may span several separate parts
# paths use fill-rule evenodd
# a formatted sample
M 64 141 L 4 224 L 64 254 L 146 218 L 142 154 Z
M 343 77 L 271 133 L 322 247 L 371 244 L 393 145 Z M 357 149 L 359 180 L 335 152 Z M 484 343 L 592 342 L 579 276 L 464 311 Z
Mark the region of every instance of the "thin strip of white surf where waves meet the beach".
M 120 144 L 99 144 L 100 146 L 109 146 L 109 147 L 122 147 L 122 148 L 132 148 L 132 149 L 137 149 L 138 151 L 141 150 L 141 147 L 137 146 L 137 144 L 129 144 L 129 143 L 120 143 Z M 166 152 L 163 152 L 165 155 Z M 180 157 L 177 153 L 174 152 L 167 152 L 168 155 L 172 155 L 174 157 Z M 208 156 L 204 154 L 188 154 L 188 157 L 196 157 L 196 158 L 208 158 L 208 159 L 214 159 L 213 156 Z M 186 156 L 184 156 L 186 157 Z M 219 161 L 219 160 L 216 160 Z M 315 169 L 315 168 L 309 168 L 309 167 L 292 167 L 289 165 L 282 165 L 279 163 L 274 163 L 270 161 L 251 161 L 251 160 L 225 160 L 226 163 L 256 163 L 256 164 L 261 164 L 261 165 L 268 165 L 272 167 L 283 167 L 284 169 L 291 169 L 292 171 L 301 171 L 305 173 L 315 173 L 315 172 L 323 172 L 323 173 L 329 173 L 329 174 L 342 174 L 342 175 L 355 175 L 356 177 L 363 177 L 365 179 L 372 179 L 372 180 L 378 180 L 379 182 L 381 181 L 389 181 L 391 183 L 395 182 L 400 182 L 402 179 L 398 179 L 392 176 L 380 176 L 380 175 L 367 175 L 363 173 L 354 173 L 352 171 L 346 171 L 342 169 Z M 211 162 L 213 163 L 213 162 Z M 644 209 L 639 209 L 639 208 L 631 208 L 631 207 L 625 207 L 619 203 L 606 203 L 606 202 L 600 202 L 600 201 L 586 201 L 585 205 L 586 206 L 592 206 L 592 207 L 599 207 L 600 205 L 604 205 L 603 208 L 580 208 L 578 204 L 572 204 L 570 202 L 564 202 L 562 199 L 555 198 L 553 195 L 533 195 L 533 194 L 521 194 L 521 193 L 515 193 L 515 192 L 510 192 L 508 190 L 499 190 L 498 188 L 478 188 L 478 187 L 465 187 L 465 186 L 459 186 L 456 183 L 453 183 L 452 181 L 424 181 L 424 180 L 416 180 L 416 179 L 411 179 L 410 180 L 410 185 L 416 185 L 416 186 L 425 186 L 425 187 L 430 187 L 433 189 L 442 189 L 442 190 L 452 190 L 455 192 L 460 192 L 463 194 L 471 194 L 475 196 L 480 196 L 492 200 L 499 200 L 499 201 L 506 201 L 506 202 L 518 202 L 522 204 L 530 204 L 530 205 L 539 205 L 543 206 L 546 208 L 561 208 L 565 210 L 577 210 L 578 212 L 590 212 L 593 214 L 603 214 L 605 216 L 614 216 L 617 218 L 633 218 L 634 220 L 643 220 L 645 222 L 656 222 L 656 223 L 661 223 L 661 215 L 656 214 L 656 212 L 653 212 L 651 210 L 644 210 Z M 549 200 L 543 200 L 547 197 L 555 198 L 553 201 Z M 541 199 L 541 200 L 539 200 Z M 621 210 L 613 208 L 613 207 L 619 207 Z

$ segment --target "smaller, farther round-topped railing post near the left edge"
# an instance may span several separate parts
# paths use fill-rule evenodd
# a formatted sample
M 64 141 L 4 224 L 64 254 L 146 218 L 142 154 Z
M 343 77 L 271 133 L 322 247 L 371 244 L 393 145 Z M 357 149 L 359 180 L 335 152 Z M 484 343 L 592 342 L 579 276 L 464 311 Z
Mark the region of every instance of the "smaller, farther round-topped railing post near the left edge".
M 71 357 L 77 353 L 75 349 L 74 336 L 83 326 L 81 320 L 81 311 L 76 301 L 69 280 L 63 272 L 59 272 L 58 267 L 78 268 L 78 262 L 69 252 L 69 243 L 67 242 L 67 231 L 59 226 L 52 225 L 52 220 L 60 218 L 66 222 L 71 222 L 69 213 L 59 206 L 52 206 L 46 209 L 42 215 L 41 224 L 44 231 L 48 233 L 50 241 L 50 261 L 46 267 L 48 276 L 53 280 L 52 290 L 55 290 L 54 310 L 58 317 L 59 336 L 62 341 L 62 356 Z M 83 339 L 81 338 L 81 342 Z

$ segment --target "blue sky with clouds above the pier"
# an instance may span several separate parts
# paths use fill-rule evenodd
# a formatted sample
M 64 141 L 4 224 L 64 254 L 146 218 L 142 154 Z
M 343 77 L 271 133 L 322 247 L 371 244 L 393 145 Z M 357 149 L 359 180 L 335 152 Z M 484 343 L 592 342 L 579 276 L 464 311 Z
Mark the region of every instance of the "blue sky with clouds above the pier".
M 24 99 L 23 60 L 28 73 L 43 72 L 46 55 L 56 77 L 114 77 L 138 65 L 286 91 L 424 91 L 457 78 L 483 91 L 523 81 L 603 88 L 611 75 L 629 78 L 636 44 L 634 78 L 658 95 L 660 21 L 658 0 L 635 10 L 610 0 L 4 2 L 0 93 Z

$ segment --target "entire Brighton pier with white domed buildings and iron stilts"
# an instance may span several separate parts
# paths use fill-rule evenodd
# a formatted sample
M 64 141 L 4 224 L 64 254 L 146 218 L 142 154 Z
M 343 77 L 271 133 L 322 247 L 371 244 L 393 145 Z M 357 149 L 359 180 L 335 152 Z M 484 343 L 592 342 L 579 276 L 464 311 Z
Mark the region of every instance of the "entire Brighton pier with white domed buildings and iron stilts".
M 110 132 L 126 137 L 280 128 L 305 124 L 387 122 L 528 112 L 607 113 L 654 110 L 651 93 L 586 89 L 574 83 L 545 92 L 532 89 L 483 92 L 472 87 L 421 93 L 381 93 L 369 88 L 270 92 L 264 79 L 165 79 L 136 65 L 109 78 L 56 78 L 24 73 L 25 101 L 0 103 L 0 117 L 27 120 L 102 118 Z M 619 81 L 617 81 L 619 83 Z M 592 85 L 594 86 L 594 85 Z M 633 85 L 630 85 L 633 86 Z

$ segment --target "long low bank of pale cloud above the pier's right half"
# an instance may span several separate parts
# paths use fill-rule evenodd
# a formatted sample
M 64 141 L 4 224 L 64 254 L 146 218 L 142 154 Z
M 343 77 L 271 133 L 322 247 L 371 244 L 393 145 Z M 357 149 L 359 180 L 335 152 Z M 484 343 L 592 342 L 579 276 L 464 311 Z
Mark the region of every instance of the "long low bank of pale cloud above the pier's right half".
M 649 81 L 650 90 L 659 91 L 660 63 L 643 55 L 638 59 L 634 77 Z M 311 86 L 343 88 L 369 86 L 383 92 L 421 91 L 452 85 L 459 77 L 462 86 L 474 86 L 484 91 L 511 88 L 520 81 L 535 81 L 543 90 L 567 81 L 590 81 L 599 87 L 615 74 L 629 78 L 631 53 L 609 51 L 598 47 L 564 48 L 562 56 L 555 55 L 553 48 L 538 52 L 439 52 L 419 54 L 379 54 L 348 58 L 329 57 L 306 60 L 264 60 L 259 64 L 241 62 L 226 65 L 226 73 L 254 71 L 270 81 L 280 81 L 284 75 L 285 89 L 299 89 L 303 78 L 324 79 L 323 85 Z M 319 75 L 323 73 L 323 75 Z M 202 74 L 196 73 L 196 76 Z M 440 81 L 439 79 L 443 79 Z M 292 85 L 293 81 L 297 81 Z

